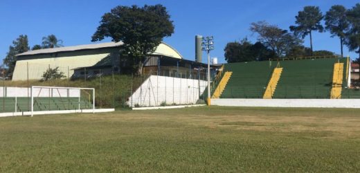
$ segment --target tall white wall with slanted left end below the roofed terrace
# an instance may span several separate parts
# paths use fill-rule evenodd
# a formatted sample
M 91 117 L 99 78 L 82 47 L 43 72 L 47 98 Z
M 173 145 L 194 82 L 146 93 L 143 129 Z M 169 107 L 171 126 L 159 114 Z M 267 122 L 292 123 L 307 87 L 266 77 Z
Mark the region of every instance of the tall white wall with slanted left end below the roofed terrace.
M 207 82 L 205 80 L 192 80 L 151 75 L 141 86 L 136 89 L 128 104 L 134 107 L 159 106 L 166 104 L 195 104 L 204 92 Z

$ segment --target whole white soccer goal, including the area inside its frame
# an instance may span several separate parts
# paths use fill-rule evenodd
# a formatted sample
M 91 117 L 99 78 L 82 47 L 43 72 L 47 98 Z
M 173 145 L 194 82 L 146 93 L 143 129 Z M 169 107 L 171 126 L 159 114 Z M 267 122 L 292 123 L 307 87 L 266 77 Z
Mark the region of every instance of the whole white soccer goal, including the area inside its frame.
M 34 111 L 92 109 L 95 111 L 95 89 L 62 86 L 31 86 L 31 116 Z

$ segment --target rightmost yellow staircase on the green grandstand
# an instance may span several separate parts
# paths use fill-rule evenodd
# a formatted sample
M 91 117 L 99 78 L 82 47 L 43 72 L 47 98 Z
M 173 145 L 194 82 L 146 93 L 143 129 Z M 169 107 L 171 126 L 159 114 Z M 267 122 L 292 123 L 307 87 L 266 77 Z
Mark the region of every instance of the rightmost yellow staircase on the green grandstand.
M 334 73 L 332 75 L 332 89 L 331 89 L 332 99 L 341 98 L 341 89 L 343 85 L 343 69 L 344 69 L 343 63 L 336 62 L 334 64 Z

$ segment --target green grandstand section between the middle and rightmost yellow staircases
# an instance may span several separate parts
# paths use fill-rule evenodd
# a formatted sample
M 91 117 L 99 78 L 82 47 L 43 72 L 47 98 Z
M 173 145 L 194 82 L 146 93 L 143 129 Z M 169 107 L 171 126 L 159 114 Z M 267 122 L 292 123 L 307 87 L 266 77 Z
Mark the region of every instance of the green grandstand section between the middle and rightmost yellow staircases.
M 280 62 L 283 73 L 273 98 L 330 98 L 333 66 L 338 60 L 326 58 Z M 345 58 L 339 61 L 345 62 Z

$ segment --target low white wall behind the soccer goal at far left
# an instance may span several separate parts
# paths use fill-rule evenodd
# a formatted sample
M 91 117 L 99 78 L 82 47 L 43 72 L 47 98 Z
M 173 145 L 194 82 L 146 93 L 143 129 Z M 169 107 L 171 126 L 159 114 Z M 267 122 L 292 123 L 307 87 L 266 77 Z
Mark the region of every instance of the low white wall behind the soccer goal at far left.
M 80 96 L 80 89 L 39 89 L 35 88 L 33 91 L 34 97 L 48 98 L 49 95 L 53 98 L 61 97 L 78 98 Z M 0 98 L 13 98 L 13 97 L 31 97 L 31 88 L 26 87 L 0 87 Z

